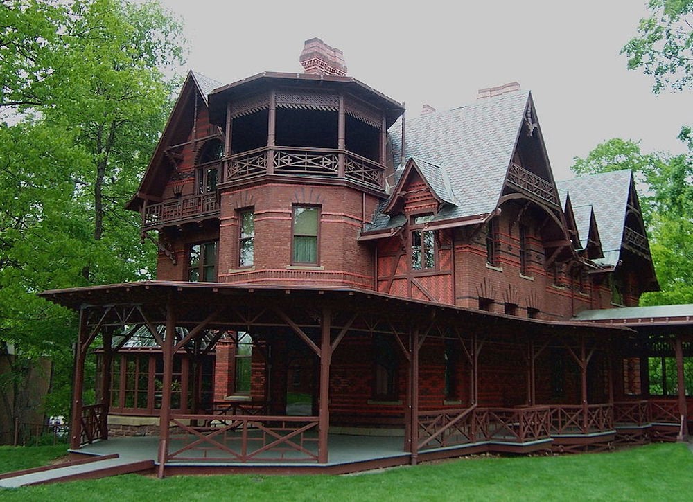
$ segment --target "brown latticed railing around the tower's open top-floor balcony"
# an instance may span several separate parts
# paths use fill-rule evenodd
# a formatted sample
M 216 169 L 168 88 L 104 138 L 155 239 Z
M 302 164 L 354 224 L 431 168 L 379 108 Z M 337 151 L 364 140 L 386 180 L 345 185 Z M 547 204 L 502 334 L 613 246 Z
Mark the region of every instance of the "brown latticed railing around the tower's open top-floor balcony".
M 347 150 L 262 147 L 229 157 L 225 182 L 265 174 L 348 179 L 383 190 L 385 166 Z

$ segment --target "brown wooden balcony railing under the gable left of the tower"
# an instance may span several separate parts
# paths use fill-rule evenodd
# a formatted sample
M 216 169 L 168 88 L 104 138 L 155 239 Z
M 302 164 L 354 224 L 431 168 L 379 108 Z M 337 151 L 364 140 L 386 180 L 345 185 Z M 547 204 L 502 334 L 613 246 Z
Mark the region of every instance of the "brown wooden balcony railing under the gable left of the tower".
M 216 192 L 187 195 L 178 199 L 150 204 L 144 210 L 142 228 L 156 228 L 175 224 L 186 219 L 209 217 L 219 214 Z

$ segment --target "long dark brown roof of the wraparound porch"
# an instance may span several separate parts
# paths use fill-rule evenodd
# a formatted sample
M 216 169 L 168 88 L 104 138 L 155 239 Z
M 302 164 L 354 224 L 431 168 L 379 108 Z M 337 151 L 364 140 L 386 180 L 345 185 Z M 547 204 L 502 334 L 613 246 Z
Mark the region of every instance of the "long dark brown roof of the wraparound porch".
M 622 325 L 589 325 L 583 321 L 543 321 L 525 319 L 506 314 L 485 312 L 471 308 L 444 305 L 414 298 L 373 292 L 349 287 L 315 287 L 277 285 L 229 285 L 225 283 L 187 283 L 177 281 L 147 280 L 138 283 L 52 289 L 39 294 L 53 303 L 71 310 L 82 307 L 109 305 L 137 305 L 152 317 L 161 317 L 166 305 L 176 306 L 179 323 L 195 323 L 222 306 L 238 310 L 244 307 L 279 307 L 305 312 L 316 305 L 332 307 L 335 311 L 356 311 L 374 314 L 385 320 L 411 321 L 430 324 L 434 319 L 442 325 L 470 326 L 470 321 L 493 324 L 498 328 L 513 327 L 518 333 L 579 334 L 588 328 L 598 336 L 628 336 L 633 330 Z M 238 323 L 231 319 L 238 316 L 219 316 L 216 323 Z M 227 320 L 228 319 L 228 320 Z M 556 329 L 562 328 L 562 329 Z

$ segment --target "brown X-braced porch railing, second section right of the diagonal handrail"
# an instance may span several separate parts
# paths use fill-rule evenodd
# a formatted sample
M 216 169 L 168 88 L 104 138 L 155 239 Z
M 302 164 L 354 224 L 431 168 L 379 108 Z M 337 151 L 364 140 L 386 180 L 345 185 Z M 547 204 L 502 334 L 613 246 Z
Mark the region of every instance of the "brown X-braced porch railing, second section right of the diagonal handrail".
M 551 409 L 551 434 L 589 434 L 613 430 L 611 404 L 554 404 Z

